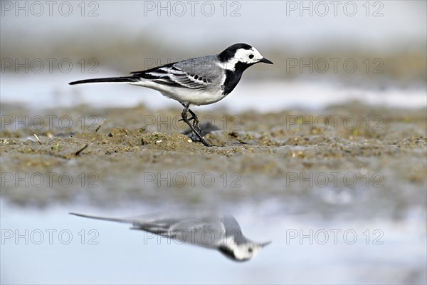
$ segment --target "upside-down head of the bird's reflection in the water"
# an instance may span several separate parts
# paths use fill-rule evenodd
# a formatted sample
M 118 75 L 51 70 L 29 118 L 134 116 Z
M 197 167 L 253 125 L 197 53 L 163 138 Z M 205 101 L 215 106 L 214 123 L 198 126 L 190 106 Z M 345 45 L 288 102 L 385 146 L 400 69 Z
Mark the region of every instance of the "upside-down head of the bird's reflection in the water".
M 233 261 L 248 261 L 257 255 L 263 247 L 271 242 L 264 242 L 262 244 L 257 242 L 244 242 L 241 244 L 227 243 L 222 244 L 218 249 L 226 257 Z

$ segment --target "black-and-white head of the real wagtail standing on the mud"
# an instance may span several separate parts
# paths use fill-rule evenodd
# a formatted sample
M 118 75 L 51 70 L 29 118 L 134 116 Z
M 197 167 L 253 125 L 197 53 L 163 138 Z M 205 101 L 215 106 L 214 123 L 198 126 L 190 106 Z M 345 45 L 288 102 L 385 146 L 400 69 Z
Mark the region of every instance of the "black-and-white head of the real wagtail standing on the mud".
M 273 64 L 264 58 L 256 48 L 246 43 L 236 43 L 229 46 L 225 51 L 218 54 L 218 59 L 224 64 L 224 68 L 231 71 L 234 71 L 236 66 L 244 70 L 255 63 Z

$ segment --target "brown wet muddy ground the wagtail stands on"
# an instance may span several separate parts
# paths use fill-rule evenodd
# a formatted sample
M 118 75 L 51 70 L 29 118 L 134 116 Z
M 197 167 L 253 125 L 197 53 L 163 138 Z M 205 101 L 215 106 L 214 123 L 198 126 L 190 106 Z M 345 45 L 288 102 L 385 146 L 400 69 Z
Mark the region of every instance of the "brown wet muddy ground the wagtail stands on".
M 426 211 L 425 108 L 194 111 L 218 127 L 205 136 L 216 146 L 181 134 L 178 106 L 2 104 L 1 198 L 31 207 L 251 204 L 325 217 Z

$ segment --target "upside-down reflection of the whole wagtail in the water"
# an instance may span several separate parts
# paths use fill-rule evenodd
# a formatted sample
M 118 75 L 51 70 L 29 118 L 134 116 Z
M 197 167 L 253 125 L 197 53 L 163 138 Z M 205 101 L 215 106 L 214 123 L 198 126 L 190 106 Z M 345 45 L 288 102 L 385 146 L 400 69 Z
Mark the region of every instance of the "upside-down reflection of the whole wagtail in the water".
M 217 249 L 233 261 L 248 261 L 270 242 L 252 242 L 243 236 L 241 227 L 231 215 L 217 213 L 150 214 L 124 219 L 95 217 L 70 213 L 80 217 L 132 224 L 131 229 L 159 234 L 186 244 Z

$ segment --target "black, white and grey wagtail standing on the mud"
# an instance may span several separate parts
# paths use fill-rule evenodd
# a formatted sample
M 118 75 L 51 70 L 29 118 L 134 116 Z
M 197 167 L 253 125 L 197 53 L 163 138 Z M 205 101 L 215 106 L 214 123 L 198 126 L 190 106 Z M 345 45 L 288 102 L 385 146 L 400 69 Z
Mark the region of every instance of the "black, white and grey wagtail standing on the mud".
M 214 56 L 189 58 L 146 71 L 132 72 L 132 76 L 94 78 L 71 82 L 81 83 L 128 83 L 158 90 L 162 95 L 184 105 L 182 120 L 189 125 L 199 140 L 209 145 L 201 136 L 196 114 L 189 109 L 193 105 L 216 103 L 233 91 L 243 71 L 255 63 L 270 63 L 268 59 L 246 43 L 236 43 Z M 187 117 L 191 114 L 191 118 Z M 190 123 L 193 120 L 193 123 Z

